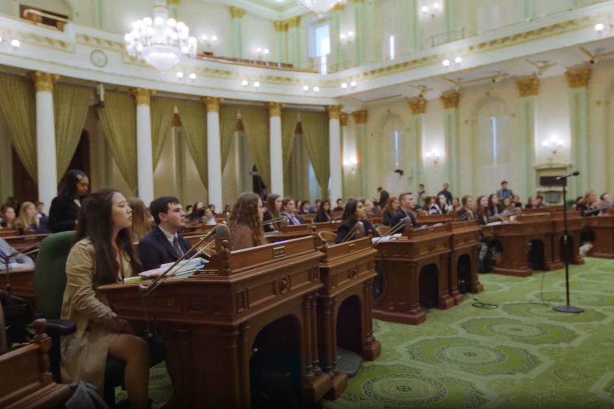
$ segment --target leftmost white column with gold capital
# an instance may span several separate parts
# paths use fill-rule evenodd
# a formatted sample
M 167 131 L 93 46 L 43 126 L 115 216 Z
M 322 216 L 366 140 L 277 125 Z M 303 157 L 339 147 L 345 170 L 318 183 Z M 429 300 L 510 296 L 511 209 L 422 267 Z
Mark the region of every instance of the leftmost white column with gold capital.
M 36 88 L 36 164 L 39 201 L 49 210 L 58 194 L 57 160 L 55 153 L 55 117 L 53 116 L 53 83 L 60 75 L 35 71 Z

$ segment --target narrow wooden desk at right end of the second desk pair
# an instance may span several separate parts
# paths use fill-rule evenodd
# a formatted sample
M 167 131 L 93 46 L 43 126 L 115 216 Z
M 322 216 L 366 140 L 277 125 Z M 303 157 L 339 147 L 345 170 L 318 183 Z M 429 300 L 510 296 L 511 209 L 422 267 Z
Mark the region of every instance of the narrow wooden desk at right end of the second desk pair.
M 450 238 L 450 262 L 448 286 L 450 297 L 454 304 L 460 304 L 463 300 L 462 294 L 458 291 L 459 266 L 468 267 L 469 291 L 477 294 L 482 292 L 484 286 L 478 280 L 478 256 L 480 254 L 480 232 L 481 228 L 475 220 L 455 221 L 450 224 L 452 237 Z M 462 264 L 461 264 L 462 263 Z

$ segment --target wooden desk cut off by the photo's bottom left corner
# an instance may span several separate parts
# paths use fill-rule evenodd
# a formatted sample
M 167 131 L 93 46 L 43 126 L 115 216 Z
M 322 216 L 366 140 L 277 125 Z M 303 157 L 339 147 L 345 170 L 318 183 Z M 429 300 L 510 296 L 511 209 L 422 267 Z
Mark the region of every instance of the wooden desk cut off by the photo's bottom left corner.
M 34 321 L 34 329 L 31 343 L 0 355 L 0 408 L 55 408 L 70 392 L 49 372 L 51 338 L 44 332 L 45 320 Z

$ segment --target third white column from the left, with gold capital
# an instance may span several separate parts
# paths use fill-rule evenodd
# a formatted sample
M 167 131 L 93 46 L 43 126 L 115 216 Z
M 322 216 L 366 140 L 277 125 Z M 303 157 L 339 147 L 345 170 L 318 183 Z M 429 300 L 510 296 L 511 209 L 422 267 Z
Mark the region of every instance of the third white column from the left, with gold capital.
M 222 142 L 220 142 L 221 98 L 204 97 L 207 106 L 207 170 L 209 203 L 222 212 Z

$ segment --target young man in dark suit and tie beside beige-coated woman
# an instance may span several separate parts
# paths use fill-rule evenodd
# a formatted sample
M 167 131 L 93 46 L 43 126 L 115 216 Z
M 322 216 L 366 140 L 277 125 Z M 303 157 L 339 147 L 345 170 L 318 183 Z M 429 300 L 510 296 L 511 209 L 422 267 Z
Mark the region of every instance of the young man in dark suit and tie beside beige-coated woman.
M 139 242 L 139 259 L 144 270 L 175 262 L 190 250 L 190 243 L 178 233 L 185 227 L 185 213 L 176 197 L 158 197 L 149 205 L 157 227 Z

